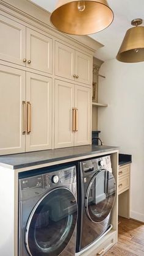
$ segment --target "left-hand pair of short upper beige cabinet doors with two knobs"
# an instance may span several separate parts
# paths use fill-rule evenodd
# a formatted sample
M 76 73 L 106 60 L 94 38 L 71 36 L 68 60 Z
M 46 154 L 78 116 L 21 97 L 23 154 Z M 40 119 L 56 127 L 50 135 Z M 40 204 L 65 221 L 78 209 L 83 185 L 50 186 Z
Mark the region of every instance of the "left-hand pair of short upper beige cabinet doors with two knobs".
M 0 17 L 0 59 L 52 73 L 52 38 Z

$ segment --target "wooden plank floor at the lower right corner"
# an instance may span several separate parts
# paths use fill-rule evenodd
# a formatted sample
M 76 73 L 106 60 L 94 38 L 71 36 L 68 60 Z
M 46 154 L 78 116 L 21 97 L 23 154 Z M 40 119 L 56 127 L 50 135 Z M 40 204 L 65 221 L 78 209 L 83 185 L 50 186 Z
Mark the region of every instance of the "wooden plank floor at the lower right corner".
M 105 256 L 144 256 L 144 224 L 120 218 L 118 243 Z

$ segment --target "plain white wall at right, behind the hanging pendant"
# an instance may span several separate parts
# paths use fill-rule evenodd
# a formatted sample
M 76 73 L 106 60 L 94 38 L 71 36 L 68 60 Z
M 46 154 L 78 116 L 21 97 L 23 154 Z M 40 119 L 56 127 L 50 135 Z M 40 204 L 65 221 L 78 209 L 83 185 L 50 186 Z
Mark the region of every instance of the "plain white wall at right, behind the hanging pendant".
M 105 145 L 132 155 L 131 218 L 144 221 L 144 62 L 107 60 L 99 73 L 98 130 Z

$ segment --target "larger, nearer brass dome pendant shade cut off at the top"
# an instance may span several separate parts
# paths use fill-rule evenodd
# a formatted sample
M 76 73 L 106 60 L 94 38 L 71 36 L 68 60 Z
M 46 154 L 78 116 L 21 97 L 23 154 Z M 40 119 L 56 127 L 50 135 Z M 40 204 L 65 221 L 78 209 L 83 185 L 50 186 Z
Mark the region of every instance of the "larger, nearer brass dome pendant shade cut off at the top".
M 59 0 L 50 20 L 64 33 L 88 35 L 108 27 L 113 21 L 113 12 L 106 0 Z

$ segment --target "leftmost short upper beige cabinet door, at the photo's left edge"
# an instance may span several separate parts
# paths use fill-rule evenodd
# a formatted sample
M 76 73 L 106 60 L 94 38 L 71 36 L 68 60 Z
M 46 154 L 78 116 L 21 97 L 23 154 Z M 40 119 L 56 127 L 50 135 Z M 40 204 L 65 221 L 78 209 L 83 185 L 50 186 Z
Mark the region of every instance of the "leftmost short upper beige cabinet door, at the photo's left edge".
M 26 65 L 26 27 L 0 15 L 0 59 Z

